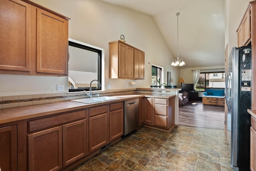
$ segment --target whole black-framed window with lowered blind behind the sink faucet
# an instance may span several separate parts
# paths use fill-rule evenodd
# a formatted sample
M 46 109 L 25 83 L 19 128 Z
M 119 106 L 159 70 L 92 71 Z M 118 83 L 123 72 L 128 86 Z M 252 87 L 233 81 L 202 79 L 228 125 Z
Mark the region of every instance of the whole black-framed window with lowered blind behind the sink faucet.
M 68 92 L 104 89 L 104 49 L 69 39 Z

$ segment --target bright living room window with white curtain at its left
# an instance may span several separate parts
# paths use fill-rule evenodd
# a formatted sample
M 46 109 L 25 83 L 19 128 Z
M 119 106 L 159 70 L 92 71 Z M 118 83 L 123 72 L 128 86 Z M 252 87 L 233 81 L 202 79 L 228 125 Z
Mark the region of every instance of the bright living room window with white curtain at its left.
M 224 72 L 208 72 L 200 73 L 196 84 L 196 91 L 205 91 L 206 88 L 224 88 L 225 73 Z

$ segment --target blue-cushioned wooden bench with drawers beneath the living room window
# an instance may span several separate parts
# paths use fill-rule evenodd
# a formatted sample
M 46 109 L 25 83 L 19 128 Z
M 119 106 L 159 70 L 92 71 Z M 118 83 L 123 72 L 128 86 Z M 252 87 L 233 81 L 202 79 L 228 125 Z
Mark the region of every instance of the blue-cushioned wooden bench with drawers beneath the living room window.
M 203 95 L 203 105 L 225 105 L 224 88 L 206 88 Z

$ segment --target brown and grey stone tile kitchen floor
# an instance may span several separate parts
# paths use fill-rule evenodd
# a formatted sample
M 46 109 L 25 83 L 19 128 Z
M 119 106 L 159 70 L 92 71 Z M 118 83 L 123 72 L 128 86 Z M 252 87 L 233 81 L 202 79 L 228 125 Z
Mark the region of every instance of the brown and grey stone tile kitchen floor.
M 141 127 L 72 171 L 232 171 L 224 130 Z

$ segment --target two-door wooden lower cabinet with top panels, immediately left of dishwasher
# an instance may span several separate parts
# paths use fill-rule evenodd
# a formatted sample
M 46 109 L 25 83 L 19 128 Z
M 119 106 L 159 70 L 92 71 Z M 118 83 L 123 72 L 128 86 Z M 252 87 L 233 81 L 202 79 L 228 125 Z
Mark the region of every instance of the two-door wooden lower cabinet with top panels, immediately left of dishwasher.
M 89 152 L 124 135 L 124 102 L 89 109 Z

